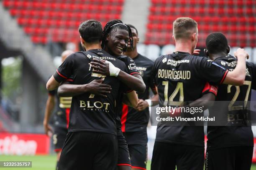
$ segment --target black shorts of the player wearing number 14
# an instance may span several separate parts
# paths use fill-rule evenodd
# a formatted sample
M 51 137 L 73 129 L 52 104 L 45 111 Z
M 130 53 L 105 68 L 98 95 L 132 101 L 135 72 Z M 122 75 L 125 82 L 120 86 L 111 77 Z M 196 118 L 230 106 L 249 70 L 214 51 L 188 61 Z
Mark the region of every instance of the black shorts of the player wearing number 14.
M 204 147 L 155 142 L 151 170 L 203 170 Z

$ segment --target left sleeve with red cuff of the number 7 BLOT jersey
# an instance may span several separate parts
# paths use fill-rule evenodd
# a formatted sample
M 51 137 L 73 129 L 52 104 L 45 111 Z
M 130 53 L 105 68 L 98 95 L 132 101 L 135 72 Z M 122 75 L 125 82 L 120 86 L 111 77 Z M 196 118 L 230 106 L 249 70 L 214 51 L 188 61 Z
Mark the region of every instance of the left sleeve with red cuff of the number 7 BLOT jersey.
M 74 54 L 66 58 L 66 60 L 59 66 L 59 68 L 54 72 L 54 79 L 57 82 L 62 82 L 63 80 L 72 81 L 72 73 L 75 68 Z

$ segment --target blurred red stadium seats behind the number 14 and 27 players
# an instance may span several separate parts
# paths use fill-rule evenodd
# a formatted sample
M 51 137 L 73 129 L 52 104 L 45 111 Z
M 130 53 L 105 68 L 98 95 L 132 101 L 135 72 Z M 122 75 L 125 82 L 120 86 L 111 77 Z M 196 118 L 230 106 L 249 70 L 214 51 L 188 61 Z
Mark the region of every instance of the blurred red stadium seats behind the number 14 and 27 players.
M 207 35 L 218 31 L 231 46 L 255 47 L 255 7 L 255 0 L 151 0 L 145 43 L 174 44 L 173 21 L 190 17 L 198 23 L 197 46 L 204 47 Z

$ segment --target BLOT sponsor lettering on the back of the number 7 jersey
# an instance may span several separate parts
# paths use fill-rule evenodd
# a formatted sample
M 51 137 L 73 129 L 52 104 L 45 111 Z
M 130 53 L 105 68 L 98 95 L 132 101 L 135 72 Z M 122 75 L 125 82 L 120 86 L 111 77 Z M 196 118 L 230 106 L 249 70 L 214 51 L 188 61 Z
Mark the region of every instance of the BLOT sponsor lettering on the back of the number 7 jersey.
M 81 110 L 101 110 L 104 112 L 109 112 L 108 107 L 110 103 L 107 102 L 100 102 L 100 101 L 95 101 L 92 102 L 90 100 L 84 101 L 80 100 L 80 109 Z

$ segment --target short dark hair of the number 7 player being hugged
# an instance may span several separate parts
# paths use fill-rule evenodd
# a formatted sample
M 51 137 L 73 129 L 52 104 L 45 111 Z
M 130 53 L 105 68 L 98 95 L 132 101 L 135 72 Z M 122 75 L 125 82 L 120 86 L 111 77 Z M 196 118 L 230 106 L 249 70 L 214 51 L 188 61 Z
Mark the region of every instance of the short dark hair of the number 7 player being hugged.
M 79 33 L 85 42 L 96 43 L 102 39 L 102 25 L 97 20 L 86 20 L 80 24 Z

